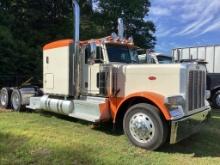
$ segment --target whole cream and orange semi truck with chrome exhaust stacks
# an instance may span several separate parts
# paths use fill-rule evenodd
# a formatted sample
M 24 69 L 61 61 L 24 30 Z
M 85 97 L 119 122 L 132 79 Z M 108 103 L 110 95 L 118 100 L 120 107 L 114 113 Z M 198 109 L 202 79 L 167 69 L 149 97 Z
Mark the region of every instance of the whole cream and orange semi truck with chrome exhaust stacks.
M 80 8 L 74 7 L 74 38 L 43 47 L 43 89 L 1 90 L 1 105 L 41 109 L 121 126 L 129 141 L 147 150 L 175 144 L 197 132 L 210 116 L 206 69 L 197 64 L 140 64 L 132 38 L 118 34 L 79 40 Z

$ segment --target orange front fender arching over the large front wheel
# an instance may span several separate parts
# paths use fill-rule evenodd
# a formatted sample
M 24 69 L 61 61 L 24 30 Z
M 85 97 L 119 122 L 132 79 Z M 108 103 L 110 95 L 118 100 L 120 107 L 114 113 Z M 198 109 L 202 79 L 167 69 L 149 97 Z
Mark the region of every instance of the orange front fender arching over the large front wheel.
M 116 117 L 117 117 L 122 105 L 124 103 L 126 103 L 127 100 L 132 99 L 132 98 L 135 99 L 137 97 L 144 98 L 144 99 L 152 102 L 153 104 L 155 104 L 158 107 L 158 109 L 160 110 L 160 112 L 163 114 L 164 118 L 166 120 L 171 120 L 169 110 L 164 105 L 165 96 L 160 95 L 158 93 L 154 93 L 154 92 L 137 92 L 137 93 L 130 94 L 125 98 L 118 98 L 117 100 L 116 100 L 116 98 L 110 98 L 110 106 L 111 106 L 112 117 L 113 117 L 114 122 L 116 120 Z

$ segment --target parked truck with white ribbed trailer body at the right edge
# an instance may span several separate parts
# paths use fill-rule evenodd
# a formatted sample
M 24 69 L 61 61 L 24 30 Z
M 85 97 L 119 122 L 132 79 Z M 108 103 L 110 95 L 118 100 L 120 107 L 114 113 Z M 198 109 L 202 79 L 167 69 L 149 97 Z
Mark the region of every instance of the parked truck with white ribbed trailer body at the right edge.
M 176 62 L 207 63 L 207 89 L 211 92 L 209 101 L 214 108 L 220 109 L 220 45 L 175 48 L 172 54 Z

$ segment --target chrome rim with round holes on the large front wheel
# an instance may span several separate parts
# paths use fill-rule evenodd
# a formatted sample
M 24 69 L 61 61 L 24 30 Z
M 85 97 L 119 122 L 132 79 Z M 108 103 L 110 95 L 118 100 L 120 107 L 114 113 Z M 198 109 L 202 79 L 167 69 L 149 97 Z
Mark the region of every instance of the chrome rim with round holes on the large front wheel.
M 155 126 L 148 115 L 144 113 L 136 113 L 130 119 L 129 130 L 136 141 L 146 143 L 153 138 Z

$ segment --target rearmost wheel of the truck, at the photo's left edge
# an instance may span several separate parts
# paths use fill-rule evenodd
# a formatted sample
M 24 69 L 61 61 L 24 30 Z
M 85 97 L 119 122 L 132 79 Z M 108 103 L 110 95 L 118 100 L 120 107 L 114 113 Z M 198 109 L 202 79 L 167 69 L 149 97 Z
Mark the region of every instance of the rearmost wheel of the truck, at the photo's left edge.
M 2 88 L 0 91 L 0 106 L 9 109 L 11 105 L 11 93 L 12 90 L 10 88 Z

